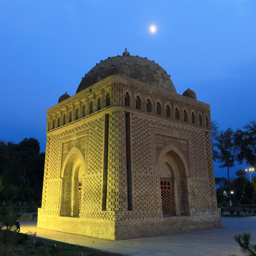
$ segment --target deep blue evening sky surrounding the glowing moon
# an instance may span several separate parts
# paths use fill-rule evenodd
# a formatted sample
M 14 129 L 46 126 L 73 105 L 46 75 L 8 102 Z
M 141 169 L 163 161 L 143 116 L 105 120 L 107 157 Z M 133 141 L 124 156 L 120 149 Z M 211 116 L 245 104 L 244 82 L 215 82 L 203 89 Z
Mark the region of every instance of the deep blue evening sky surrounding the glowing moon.
M 45 151 L 46 109 L 125 47 L 159 63 L 177 93 L 194 90 L 220 129 L 242 127 L 255 118 L 255 13 L 252 0 L 1 0 L 0 139 L 34 137 Z

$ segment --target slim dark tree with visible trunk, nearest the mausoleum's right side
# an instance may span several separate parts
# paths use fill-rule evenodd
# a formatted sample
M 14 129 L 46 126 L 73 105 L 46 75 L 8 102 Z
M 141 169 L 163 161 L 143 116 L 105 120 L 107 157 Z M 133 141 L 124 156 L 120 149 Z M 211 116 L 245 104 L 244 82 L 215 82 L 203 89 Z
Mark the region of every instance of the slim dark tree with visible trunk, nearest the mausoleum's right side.
M 222 163 L 220 168 L 227 168 L 228 173 L 228 193 L 230 193 L 229 169 L 235 166 L 233 131 L 228 128 L 227 131 L 221 131 L 216 138 L 216 160 Z

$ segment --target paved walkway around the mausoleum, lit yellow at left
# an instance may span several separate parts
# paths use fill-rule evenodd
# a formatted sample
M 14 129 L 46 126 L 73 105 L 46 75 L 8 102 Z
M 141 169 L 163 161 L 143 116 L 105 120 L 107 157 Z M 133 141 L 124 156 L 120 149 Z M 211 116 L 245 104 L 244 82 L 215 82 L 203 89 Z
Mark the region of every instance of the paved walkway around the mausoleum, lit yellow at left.
M 80 235 L 65 234 L 36 227 L 36 221 L 20 222 L 20 231 L 36 232 L 37 236 L 122 253 L 124 255 L 159 256 L 236 256 L 243 255 L 234 241 L 236 234 L 250 232 L 252 244 L 256 244 L 256 216 L 246 218 L 222 218 L 225 228 L 154 237 L 142 237 L 122 241 L 104 241 Z

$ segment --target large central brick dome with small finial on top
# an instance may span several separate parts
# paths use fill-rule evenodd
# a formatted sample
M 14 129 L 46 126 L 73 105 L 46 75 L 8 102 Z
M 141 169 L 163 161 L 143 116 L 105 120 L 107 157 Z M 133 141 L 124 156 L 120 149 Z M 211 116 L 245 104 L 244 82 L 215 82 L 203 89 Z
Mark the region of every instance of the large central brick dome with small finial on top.
M 123 74 L 141 82 L 152 84 L 176 93 L 175 87 L 167 72 L 157 63 L 147 58 L 130 56 L 128 51 L 123 56 L 109 57 L 97 63 L 84 77 L 79 84 L 76 93 L 92 86 L 102 79 L 113 74 Z M 126 66 L 124 68 L 124 65 Z

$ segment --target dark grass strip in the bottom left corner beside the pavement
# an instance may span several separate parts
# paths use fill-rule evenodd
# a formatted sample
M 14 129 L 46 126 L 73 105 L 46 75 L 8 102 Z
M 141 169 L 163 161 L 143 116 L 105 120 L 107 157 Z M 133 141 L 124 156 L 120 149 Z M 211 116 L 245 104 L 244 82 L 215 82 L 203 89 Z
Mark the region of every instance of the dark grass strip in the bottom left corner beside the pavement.
M 35 237 L 35 241 L 41 240 L 39 237 Z M 2 256 L 81 256 L 83 252 L 83 256 L 105 256 L 105 255 L 121 255 L 118 253 L 108 253 L 108 252 L 100 252 L 99 250 L 95 250 L 92 248 L 79 246 L 76 244 L 68 244 L 63 242 L 51 241 L 44 239 L 45 246 L 36 246 L 34 244 L 34 240 L 31 239 L 29 241 L 25 241 L 24 244 L 15 244 L 9 243 L 4 245 L 0 243 L 0 255 Z M 56 246 L 55 246 L 56 245 Z

